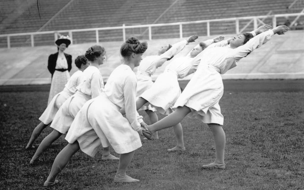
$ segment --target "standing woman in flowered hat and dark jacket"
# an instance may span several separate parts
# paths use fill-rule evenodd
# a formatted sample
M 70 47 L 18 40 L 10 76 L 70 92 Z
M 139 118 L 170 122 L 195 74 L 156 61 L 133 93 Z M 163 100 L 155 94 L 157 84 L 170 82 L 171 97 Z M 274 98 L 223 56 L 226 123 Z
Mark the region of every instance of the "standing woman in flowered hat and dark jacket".
M 47 64 L 47 68 L 52 74 L 52 82 L 47 104 L 50 103 L 56 94 L 64 89 L 64 85 L 70 78 L 69 71 L 71 71 L 72 68 L 72 56 L 64 53 L 64 50 L 71 44 L 69 36 L 61 36 L 55 43 L 57 45 L 58 52 L 49 56 Z

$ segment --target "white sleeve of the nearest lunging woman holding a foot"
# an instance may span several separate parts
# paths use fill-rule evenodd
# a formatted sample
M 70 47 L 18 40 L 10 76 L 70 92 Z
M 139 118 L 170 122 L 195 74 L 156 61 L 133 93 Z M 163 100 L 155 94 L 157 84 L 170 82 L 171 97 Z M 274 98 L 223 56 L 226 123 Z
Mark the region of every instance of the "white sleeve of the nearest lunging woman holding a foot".
M 136 131 L 140 130 L 140 123 L 138 122 L 139 114 L 136 110 L 136 77 L 127 76 L 123 86 L 123 96 L 126 111 L 126 118 L 128 119 L 132 128 Z

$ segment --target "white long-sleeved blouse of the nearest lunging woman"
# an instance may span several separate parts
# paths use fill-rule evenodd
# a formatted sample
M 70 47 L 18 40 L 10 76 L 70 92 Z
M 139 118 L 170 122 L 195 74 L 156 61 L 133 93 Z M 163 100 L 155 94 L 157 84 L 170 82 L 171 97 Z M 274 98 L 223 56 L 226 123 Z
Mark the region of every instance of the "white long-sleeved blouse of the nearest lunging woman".
M 131 67 L 122 64 L 110 74 L 104 92 L 113 104 L 125 109 L 130 125 L 138 131 L 143 120 L 136 110 L 136 85 L 136 75 Z

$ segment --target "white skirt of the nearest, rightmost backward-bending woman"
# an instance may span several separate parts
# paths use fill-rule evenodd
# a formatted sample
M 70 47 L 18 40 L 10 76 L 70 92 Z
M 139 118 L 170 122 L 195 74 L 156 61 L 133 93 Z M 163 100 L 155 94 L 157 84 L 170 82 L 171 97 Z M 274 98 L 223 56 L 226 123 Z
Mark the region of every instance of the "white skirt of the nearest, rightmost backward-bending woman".
M 173 108 L 185 105 L 192 111 L 189 117 L 201 119 L 204 123 L 223 125 L 224 117 L 219 107 L 223 92 L 223 80 L 219 72 L 204 65 L 195 72 Z

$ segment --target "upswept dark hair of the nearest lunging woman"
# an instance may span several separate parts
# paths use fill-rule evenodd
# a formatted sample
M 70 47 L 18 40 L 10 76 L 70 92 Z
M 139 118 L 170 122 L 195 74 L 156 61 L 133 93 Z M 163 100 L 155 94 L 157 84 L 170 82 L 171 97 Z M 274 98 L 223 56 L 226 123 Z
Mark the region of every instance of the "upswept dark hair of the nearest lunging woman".
M 130 57 L 132 53 L 142 54 L 148 48 L 147 42 L 140 42 L 136 37 L 130 37 L 120 47 L 120 54 L 123 57 Z

